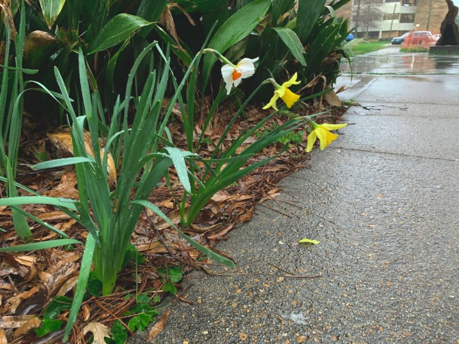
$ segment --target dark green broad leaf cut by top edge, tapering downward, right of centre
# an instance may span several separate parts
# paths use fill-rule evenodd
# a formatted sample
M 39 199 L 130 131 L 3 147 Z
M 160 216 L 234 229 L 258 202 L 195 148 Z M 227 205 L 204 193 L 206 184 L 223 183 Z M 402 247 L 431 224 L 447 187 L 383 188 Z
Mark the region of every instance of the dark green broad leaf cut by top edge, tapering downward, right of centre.
M 314 24 L 325 6 L 325 0 L 299 0 L 296 19 L 296 33 L 304 42 L 311 33 Z

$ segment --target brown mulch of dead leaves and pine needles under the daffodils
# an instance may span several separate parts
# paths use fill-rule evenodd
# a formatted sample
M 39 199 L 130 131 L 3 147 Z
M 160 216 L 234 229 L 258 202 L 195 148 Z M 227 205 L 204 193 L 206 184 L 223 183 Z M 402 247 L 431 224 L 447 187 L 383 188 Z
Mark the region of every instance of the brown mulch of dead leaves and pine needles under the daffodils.
M 328 113 L 325 115 L 325 121 L 335 121 L 344 111 L 344 108 L 340 108 Z M 301 115 L 316 112 L 315 109 L 304 104 Z M 256 108 L 248 109 L 246 111 L 247 118 L 234 125 L 230 134 L 225 138 L 224 144 L 231 144 L 231 141 L 239 135 L 243 128 L 253 126 L 267 114 L 269 112 Z M 223 109 L 218 116 L 215 116 L 205 133 L 209 140 L 206 140 L 207 143 L 203 145 L 204 147 L 199 153 L 201 156 L 210 156 L 231 116 L 231 109 Z M 274 117 L 265 125 L 265 129 L 282 124 L 285 120 L 287 120 L 286 116 Z M 31 165 L 38 162 L 33 153 L 43 152 L 45 149 L 50 152 L 54 149 L 50 147 L 49 140 L 44 139 L 45 133 L 37 134 L 34 126 L 35 124 L 32 122 L 26 122 L 23 130 L 24 139 L 21 145 L 21 158 L 18 162 L 17 181 L 42 195 L 78 198 L 78 186 L 73 168 L 39 172 L 30 169 Z M 199 123 L 196 125 L 197 137 L 200 134 L 198 128 Z M 186 140 L 183 135 L 182 124 L 178 118 L 170 124 L 169 129 L 174 143 L 179 147 L 185 147 Z M 305 138 L 305 129 L 302 128 L 301 130 L 304 131 L 303 138 Z M 249 138 L 241 150 L 256 139 L 256 137 Z M 264 149 L 257 156 L 253 156 L 250 163 L 276 154 L 281 147 L 282 144 L 279 143 Z M 301 143 L 291 144 L 287 151 L 270 163 L 218 192 L 201 211 L 194 224 L 190 228 L 183 228 L 183 230 L 199 243 L 214 248 L 220 240 L 225 239 L 232 228 L 250 220 L 257 204 L 261 204 L 267 199 L 274 199 L 279 194 L 279 181 L 282 178 L 301 167 L 307 166 L 305 161 L 308 160 L 309 156 L 304 152 L 304 149 L 305 140 Z M 183 193 L 183 188 L 173 169 L 170 171 L 170 181 L 177 195 Z M 0 193 L 6 195 L 5 184 L 1 182 Z M 27 195 L 21 191 L 19 194 Z M 174 197 L 165 182 L 154 190 L 149 200 L 157 204 L 172 222 L 179 223 L 180 215 L 176 210 Z M 28 205 L 24 206 L 24 210 L 52 224 L 74 239 L 84 242 L 88 235 L 85 228 L 60 211 L 56 211 L 53 206 Z M 57 234 L 40 225 L 30 222 L 30 226 L 35 242 L 58 239 Z M 1 246 L 15 246 L 24 243 L 18 239 L 13 230 L 11 211 L 7 207 L 0 207 L 0 228 L 5 230 L 5 232 L 0 232 Z M 141 215 L 131 242 L 146 258 L 145 262 L 140 264 L 137 269 L 134 264 L 129 264 L 126 269 L 119 273 L 114 294 L 106 297 L 91 296 L 84 301 L 69 342 L 87 342 L 90 334 L 84 335 L 83 328 L 89 322 L 110 326 L 116 319 L 126 319 L 124 313 L 131 309 L 136 302 L 134 297 L 126 298 L 126 296 L 135 295 L 136 292 L 139 294 L 146 292 L 150 297 L 159 296 L 162 299 L 164 297 L 162 292 L 164 282 L 157 272 L 158 268 L 167 269 L 167 267 L 174 265 L 181 266 L 184 269 L 184 275 L 193 269 L 203 269 L 210 274 L 213 272 L 212 262 L 202 259 L 200 252 L 188 245 L 164 221 L 149 211 L 145 211 Z M 47 304 L 56 295 L 71 297 L 72 288 L 74 288 L 78 278 L 83 249 L 83 246 L 76 245 L 72 248 L 59 247 L 35 252 L 0 253 L 0 314 L 3 315 L 0 318 L 0 343 L 6 339 L 10 343 L 45 343 L 56 342 L 62 338 L 63 330 L 49 333 L 37 339 L 33 331 L 22 333 L 27 329 L 22 328 L 23 331 L 19 331 L 19 329 L 32 317 L 42 315 Z M 231 257 L 229 258 L 231 259 Z M 175 294 L 175 300 L 189 302 L 181 298 L 180 284 L 177 284 L 176 287 L 179 291 Z M 68 311 L 61 312 L 57 319 L 65 322 L 67 316 Z M 164 321 L 165 319 L 163 319 Z

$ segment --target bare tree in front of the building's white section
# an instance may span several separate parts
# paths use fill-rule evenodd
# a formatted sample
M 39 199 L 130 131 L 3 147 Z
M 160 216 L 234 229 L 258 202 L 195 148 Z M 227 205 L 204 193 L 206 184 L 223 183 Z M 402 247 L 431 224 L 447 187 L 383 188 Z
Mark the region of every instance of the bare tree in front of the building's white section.
M 373 23 L 382 19 L 382 11 L 379 5 L 382 0 L 356 0 L 352 11 L 352 18 L 355 26 L 355 32 L 364 32 L 365 38 L 368 38 L 368 33 L 374 27 Z M 360 28 L 359 28 L 360 27 Z M 361 30 L 359 30 L 361 29 Z

